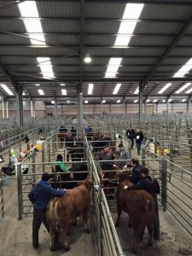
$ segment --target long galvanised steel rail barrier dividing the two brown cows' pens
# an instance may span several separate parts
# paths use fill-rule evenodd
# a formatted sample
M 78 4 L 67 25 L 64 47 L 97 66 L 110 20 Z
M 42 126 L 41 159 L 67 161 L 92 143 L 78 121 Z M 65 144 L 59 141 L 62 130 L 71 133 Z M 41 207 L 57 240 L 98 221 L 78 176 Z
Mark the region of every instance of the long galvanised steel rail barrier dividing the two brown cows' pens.
M 119 242 L 113 218 L 108 207 L 108 201 L 101 186 L 101 172 L 97 170 L 90 151 L 90 143 L 85 139 L 86 156 L 91 169 L 90 175 L 95 189 L 91 192 L 91 206 L 96 229 L 96 241 L 100 256 L 124 256 L 125 253 Z

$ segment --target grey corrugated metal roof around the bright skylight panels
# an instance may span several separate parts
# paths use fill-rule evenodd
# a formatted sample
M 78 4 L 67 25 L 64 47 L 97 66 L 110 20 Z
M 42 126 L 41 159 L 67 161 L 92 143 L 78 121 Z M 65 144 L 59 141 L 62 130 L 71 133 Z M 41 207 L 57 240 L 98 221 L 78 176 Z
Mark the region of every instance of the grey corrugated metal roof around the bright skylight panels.
M 11 5 L 5 8 L 10 3 L 13 2 L 0 1 L 0 61 L 19 86 L 28 86 L 31 97 L 38 96 L 37 88 L 32 87 L 37 82 L 42 87 L 50 85 L 50 89 L 45 90 L 44 98 L 54 97 L 52 90 L 55 90 L 55 96 L 61 96 L 61 90 L 57 91 L 54 83 L 79 84 L 81 54 L 82 58 L 87 54 L 92 57 L 90 64 L 82 64 L 83 92 L 87 96 L 87 84 L 96 84 L 96 102 L 100 102 L 98 97 L 102 94 L 111 96 L 118 82 L 122 83 L 118 96 L 126 94 L 136 97 L 133 92 L 139 83 L 147 79 L 148 90 L 144 90 L 143 95 L 158 97 L 158 91 L 167 82 L 171 81 L 172 86 L 164 92 L 164 96 L 174 93 L 180 85 L 192 79 L 190 72 L 183 79 L 173 79 L 173 74 L 192 56 L 192 19 L 189 20 L 192 5 L 187 4 L 191 1 L 148 1 L 126 48 L 113 47 L 125 3 L 86 1 L 82 26 L 80 2 L 37 1 L 46 47 L 31 45 L 18 7 Z M 182 31 L 183 34 L 177 39 L 177 34 Z M 55 79 L 43 79 L 38 56 L 50 58 Z M 116 78 L 106 79 L 110 57 L 122 58 L 122 61 Z M 150 75 L 153 68 L 154 72 Z M 0 72 L 0 82 L 6 80 L 11 87 L 8 77 Z M 67 91 L 67 96 L 76 96 L 75 90 Z M 94 102 L 94 96 L 91 102 Z

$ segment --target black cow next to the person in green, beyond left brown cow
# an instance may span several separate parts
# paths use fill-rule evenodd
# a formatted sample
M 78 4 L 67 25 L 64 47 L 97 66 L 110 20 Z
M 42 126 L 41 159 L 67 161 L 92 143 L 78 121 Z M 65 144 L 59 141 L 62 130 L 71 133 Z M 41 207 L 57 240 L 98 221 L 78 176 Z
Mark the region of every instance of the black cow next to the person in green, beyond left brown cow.
M 70 173 L 55 172 L 55 177 L 52 179 L 51 186 L 59 189 L 73 189 L 79 181 L 84 180 L 88 174 L 88 166 L 85 163 L 77 163 L 69 169 L 73 173 L 73 179 L 70 178 Z

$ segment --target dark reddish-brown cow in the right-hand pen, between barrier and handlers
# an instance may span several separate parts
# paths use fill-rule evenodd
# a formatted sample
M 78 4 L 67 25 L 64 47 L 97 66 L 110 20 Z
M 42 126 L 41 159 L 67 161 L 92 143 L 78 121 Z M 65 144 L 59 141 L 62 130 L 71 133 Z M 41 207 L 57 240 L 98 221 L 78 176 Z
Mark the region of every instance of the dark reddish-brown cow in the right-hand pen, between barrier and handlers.
M 134 238 L 132 251 L 137 253 L 139 241 L 143 238 L 145 227 L 148 229 L 148 246 L 153 245 L 155 219 L 154 198 L 143 189 L 125 190 L 125 185 L 131 185 L 124 172 L 119 173 L 119 187 L 116 191 L 118 218 L 115 226 L 119 226 L 122 210 L 129 215 L 128 225 L 133 229 Z

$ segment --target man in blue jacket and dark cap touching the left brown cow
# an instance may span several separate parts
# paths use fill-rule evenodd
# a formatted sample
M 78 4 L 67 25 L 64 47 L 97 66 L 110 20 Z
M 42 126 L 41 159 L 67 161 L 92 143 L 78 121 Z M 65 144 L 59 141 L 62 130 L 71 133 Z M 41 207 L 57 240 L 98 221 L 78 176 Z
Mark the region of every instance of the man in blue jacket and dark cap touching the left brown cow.
M 53 189 L 50 185 L 50 178 L 52 176 L 44 172 L 42 180 L 39 181 L 29 192 L 28 198 L 33 204 L 33 219 L 32 219 L 32 246 L 34 249 L 39 247 L 38 230 L 43 222 L 45 228 L 49 232 L 49 224 L 46 220 L 46 208 L 50 197 L 65 195 L 66 189 Z

